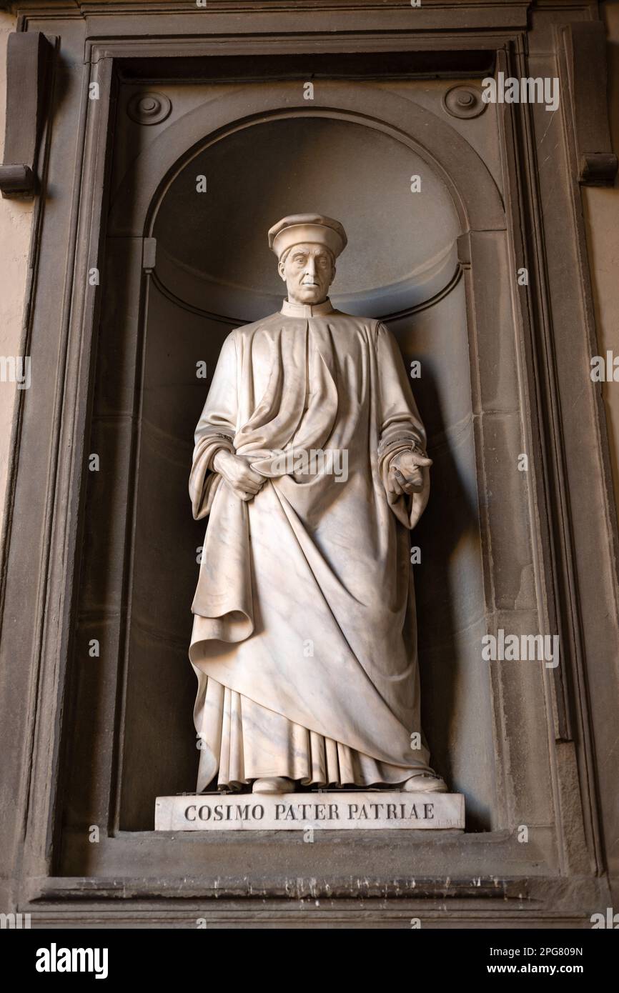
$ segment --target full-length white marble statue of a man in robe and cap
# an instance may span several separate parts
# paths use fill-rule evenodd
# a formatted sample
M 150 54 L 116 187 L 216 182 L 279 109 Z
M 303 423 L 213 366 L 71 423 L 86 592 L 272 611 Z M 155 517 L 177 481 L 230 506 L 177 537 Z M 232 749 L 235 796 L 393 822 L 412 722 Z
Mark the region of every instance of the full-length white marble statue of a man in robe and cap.
M 380 321 L 331 305 L 339 221 L 284 217 L 268 243 L 287 299 L 229 335 L 196 430 L 198 790 L 444 792 L 409 566 L 431 460 L 402 358 Z

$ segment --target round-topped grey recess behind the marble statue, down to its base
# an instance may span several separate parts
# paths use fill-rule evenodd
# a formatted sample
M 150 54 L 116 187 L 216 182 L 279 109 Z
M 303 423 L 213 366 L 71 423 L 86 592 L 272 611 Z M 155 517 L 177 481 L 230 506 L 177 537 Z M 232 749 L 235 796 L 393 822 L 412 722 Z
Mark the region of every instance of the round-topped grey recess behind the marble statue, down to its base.
M 202 176 L 205 194 L 196 189 Z M 192 520 L 187 497 L 193 433 L 226 336 L 280 306 L 284 285 L 266 230 L 286 213 L 309 211 L 338 217 L 348 232 L 336 306 L 381 317 L 406 364 L 421 362 L 411 385 L 434 459 L 430 503 L 411 534 L 421 549 L 414 579 L 423 726 L 436 768 L 466 793 L 469 827 L 494 823 L 460 221 L 437 171 L 411 147 L 363 123 L 308 113 L 209 142 L 173 175 L 156 205 L 128 577 L 123 829 L 152 827 L 157 794 L 195 786 L 187 646 L 204 523 Z M 201 362 L 206 380 L 197 376 Z

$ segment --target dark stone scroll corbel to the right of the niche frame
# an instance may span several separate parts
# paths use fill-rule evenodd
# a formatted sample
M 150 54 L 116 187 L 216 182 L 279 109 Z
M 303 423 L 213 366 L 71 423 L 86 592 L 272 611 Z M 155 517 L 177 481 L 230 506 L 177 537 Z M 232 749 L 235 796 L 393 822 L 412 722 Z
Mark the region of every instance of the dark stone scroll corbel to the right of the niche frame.
M 562 36 L 578 182 L 612 186 L 618 163 L 608 127 L 606 31 L 601 21 L 578 21 Z

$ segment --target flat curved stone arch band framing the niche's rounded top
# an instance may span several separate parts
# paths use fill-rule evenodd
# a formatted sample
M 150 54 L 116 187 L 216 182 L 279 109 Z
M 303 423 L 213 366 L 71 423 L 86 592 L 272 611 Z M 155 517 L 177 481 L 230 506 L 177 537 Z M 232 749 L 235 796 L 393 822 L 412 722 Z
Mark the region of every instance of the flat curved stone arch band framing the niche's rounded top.
M 447 119 L 387 90 L 370 87 L 364 92 L 362 112 L 358 96 L 329 81 L 321 82 L 313 103 L 307 106 L 296 84 L 280 83 L 265 90 L 242 86 L 234 87 L 225 99 L 205 100 L 179 118 L 172 116 L 117 183 L 108 231 L 150 236 L 167 187 L 206 144 L 272 117 L 299 115 L 348 119 L 390 134 L 441 175 L 463 232 L 505 228 L 503 201 L 488 166 Z

